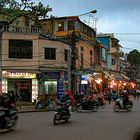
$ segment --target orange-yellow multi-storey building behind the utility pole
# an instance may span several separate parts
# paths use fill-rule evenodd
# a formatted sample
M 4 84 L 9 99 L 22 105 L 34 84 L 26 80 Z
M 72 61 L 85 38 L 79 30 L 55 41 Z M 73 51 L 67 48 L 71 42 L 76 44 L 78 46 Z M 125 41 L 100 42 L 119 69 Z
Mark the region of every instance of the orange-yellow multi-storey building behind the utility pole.
M 100 65 L 100 46 L 96 42 L 96 31 L 77 16 L 42 19 L 40 24 L 44 32 L 70 43 L 72 50 L 76 50 L 75 54 L 71 54 L 76 55 L 76 90 L 84 89 L 87 92 L 88 76 L 97 71 Z M 76 48 L 71 46 L 73 32 Z

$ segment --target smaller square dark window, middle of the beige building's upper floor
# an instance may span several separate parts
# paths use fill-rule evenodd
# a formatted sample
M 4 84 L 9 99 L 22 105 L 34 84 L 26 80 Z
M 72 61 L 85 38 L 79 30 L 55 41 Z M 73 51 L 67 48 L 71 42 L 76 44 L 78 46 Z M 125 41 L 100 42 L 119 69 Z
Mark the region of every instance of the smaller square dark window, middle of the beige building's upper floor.
M 56 60 L 56 48 L 45 48 L 45 59 Z

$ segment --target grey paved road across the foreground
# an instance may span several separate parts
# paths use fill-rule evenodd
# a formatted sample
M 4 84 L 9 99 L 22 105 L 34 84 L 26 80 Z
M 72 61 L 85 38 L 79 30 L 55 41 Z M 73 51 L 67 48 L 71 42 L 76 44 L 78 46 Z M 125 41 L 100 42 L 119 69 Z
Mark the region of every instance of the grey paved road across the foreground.
M 73 112 L 71 120 L 54 126 L 54 112 L 19 114 L 15 131 L 1 134 L 0 140 L 131 140 L 140 127 L 140 101 L 132 112 L 115 113 L 113 104 L 98 112 Z

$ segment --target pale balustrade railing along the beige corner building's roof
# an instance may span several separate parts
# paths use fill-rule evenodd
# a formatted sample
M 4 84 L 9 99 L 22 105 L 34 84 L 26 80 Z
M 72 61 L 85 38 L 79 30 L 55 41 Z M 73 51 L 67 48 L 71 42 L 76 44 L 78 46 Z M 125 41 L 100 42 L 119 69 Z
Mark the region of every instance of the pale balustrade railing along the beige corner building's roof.
M 32 33 L 39 34 L 41 31 L 39 28 L 29 28 L 29 27 L 18 27 L 18 26 L 3 26 L 0 32 L 14 32 L 14 33 Z

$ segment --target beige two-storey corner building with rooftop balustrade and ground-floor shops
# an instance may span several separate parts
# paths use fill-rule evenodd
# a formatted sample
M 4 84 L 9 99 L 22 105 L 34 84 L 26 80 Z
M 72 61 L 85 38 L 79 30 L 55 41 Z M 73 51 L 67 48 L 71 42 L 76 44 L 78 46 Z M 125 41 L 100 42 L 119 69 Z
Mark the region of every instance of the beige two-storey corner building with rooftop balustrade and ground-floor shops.
M 18 22 L 17 22 L 18 21 Z M 27 22 L 28 21 L 28 22 Z M 70 47 L 41 35 L 25 16 L 0 28 L 0 73 L 3 92 L 34 101 L 38 94 L 61 96 L 70 77 Z M 28 23 L 28 24 L 27 24 Z

